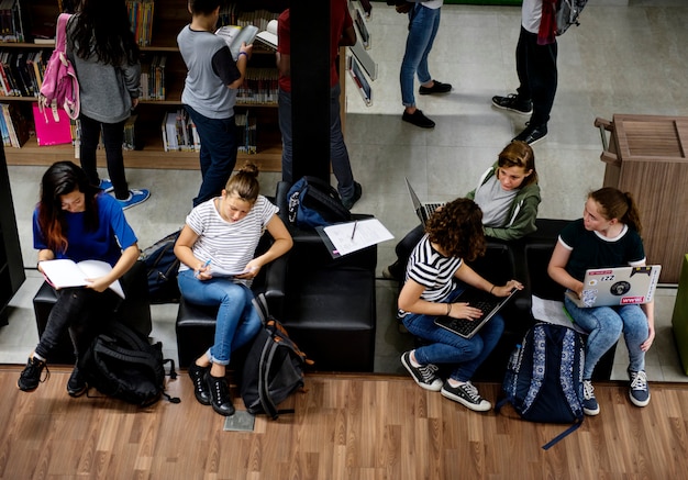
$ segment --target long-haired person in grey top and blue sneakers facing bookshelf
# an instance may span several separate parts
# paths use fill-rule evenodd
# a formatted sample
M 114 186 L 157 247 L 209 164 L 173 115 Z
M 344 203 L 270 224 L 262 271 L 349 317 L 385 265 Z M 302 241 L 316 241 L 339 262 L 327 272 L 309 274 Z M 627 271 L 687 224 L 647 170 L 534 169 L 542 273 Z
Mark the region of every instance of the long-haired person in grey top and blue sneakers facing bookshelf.
M 89 181 L 114 191 L 122 209 L 147 200 L 146 189 L 131 190 L 124 172 L 124 123 L 138 104 L 138 46 L 123 0 L 81 0 L 67 23 L 67 56 L 79 80 L 81 139 L 79 158 Z M 100 179 L 96 150 L 102 132 L 110 179 Z

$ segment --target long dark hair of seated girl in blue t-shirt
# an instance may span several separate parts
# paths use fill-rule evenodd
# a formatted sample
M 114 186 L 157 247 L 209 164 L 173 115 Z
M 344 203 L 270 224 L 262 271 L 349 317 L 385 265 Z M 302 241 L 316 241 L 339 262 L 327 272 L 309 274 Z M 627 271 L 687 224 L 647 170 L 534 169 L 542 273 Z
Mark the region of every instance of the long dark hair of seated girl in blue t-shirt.
M 84 222 L 87 231 L 99 226 L 98 202 L 100 189 L 89 183 L 86 172 L 71 161 L 57 161 L 43 174 L 38 201 L 38 227 L 47 247 L 53 252 L 67 252 L 67 219 L 62 208 L 62 196 L 78 190 L 84 193 Z

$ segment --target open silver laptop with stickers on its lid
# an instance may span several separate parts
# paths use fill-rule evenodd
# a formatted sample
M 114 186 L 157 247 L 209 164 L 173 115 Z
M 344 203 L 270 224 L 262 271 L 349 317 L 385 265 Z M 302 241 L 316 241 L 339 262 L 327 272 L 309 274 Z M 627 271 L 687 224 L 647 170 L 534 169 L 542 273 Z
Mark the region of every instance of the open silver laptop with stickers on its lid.
M 566 294 L 581 309 L 642 305 L 652 301 L 661 271 L 661 265 L 595 268 L 586 271 L 582 280 L 582 298 L 579 299 L 570 290 Z

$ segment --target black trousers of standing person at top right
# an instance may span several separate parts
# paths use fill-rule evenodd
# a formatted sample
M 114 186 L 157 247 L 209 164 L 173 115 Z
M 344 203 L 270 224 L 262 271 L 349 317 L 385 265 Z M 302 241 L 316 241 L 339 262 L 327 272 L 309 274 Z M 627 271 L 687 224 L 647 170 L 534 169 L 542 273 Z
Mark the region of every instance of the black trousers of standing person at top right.
M 521 82 L 519 99 L 533 101 L 531 125 L 546 124 L 554 103 L 557 86 L 556 42 L 537 45 L 537 34 L 521 26 L 517 44 L 517 74 Z

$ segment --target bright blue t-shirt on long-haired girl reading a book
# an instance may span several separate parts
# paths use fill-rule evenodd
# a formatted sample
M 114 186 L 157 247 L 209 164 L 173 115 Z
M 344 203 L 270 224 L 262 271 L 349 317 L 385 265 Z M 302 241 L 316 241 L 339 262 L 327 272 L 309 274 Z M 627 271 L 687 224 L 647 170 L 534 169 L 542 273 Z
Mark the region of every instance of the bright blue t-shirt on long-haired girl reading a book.
M 136 235 L 126 222 L 120 203 L 109 194 L 97 197 L 99 225 L 96 231 L 87 231 L 84 212 L 64 212 L 67 220 L 67 250 L 54 252 L 55 258 L 69 258 L 74 261 L 103 260 L 114 267 L 122 250 L 136 243 Z M 38 208 L 33 212 L 33 247 L 47 249 L 47 243 L 38 226 Z

